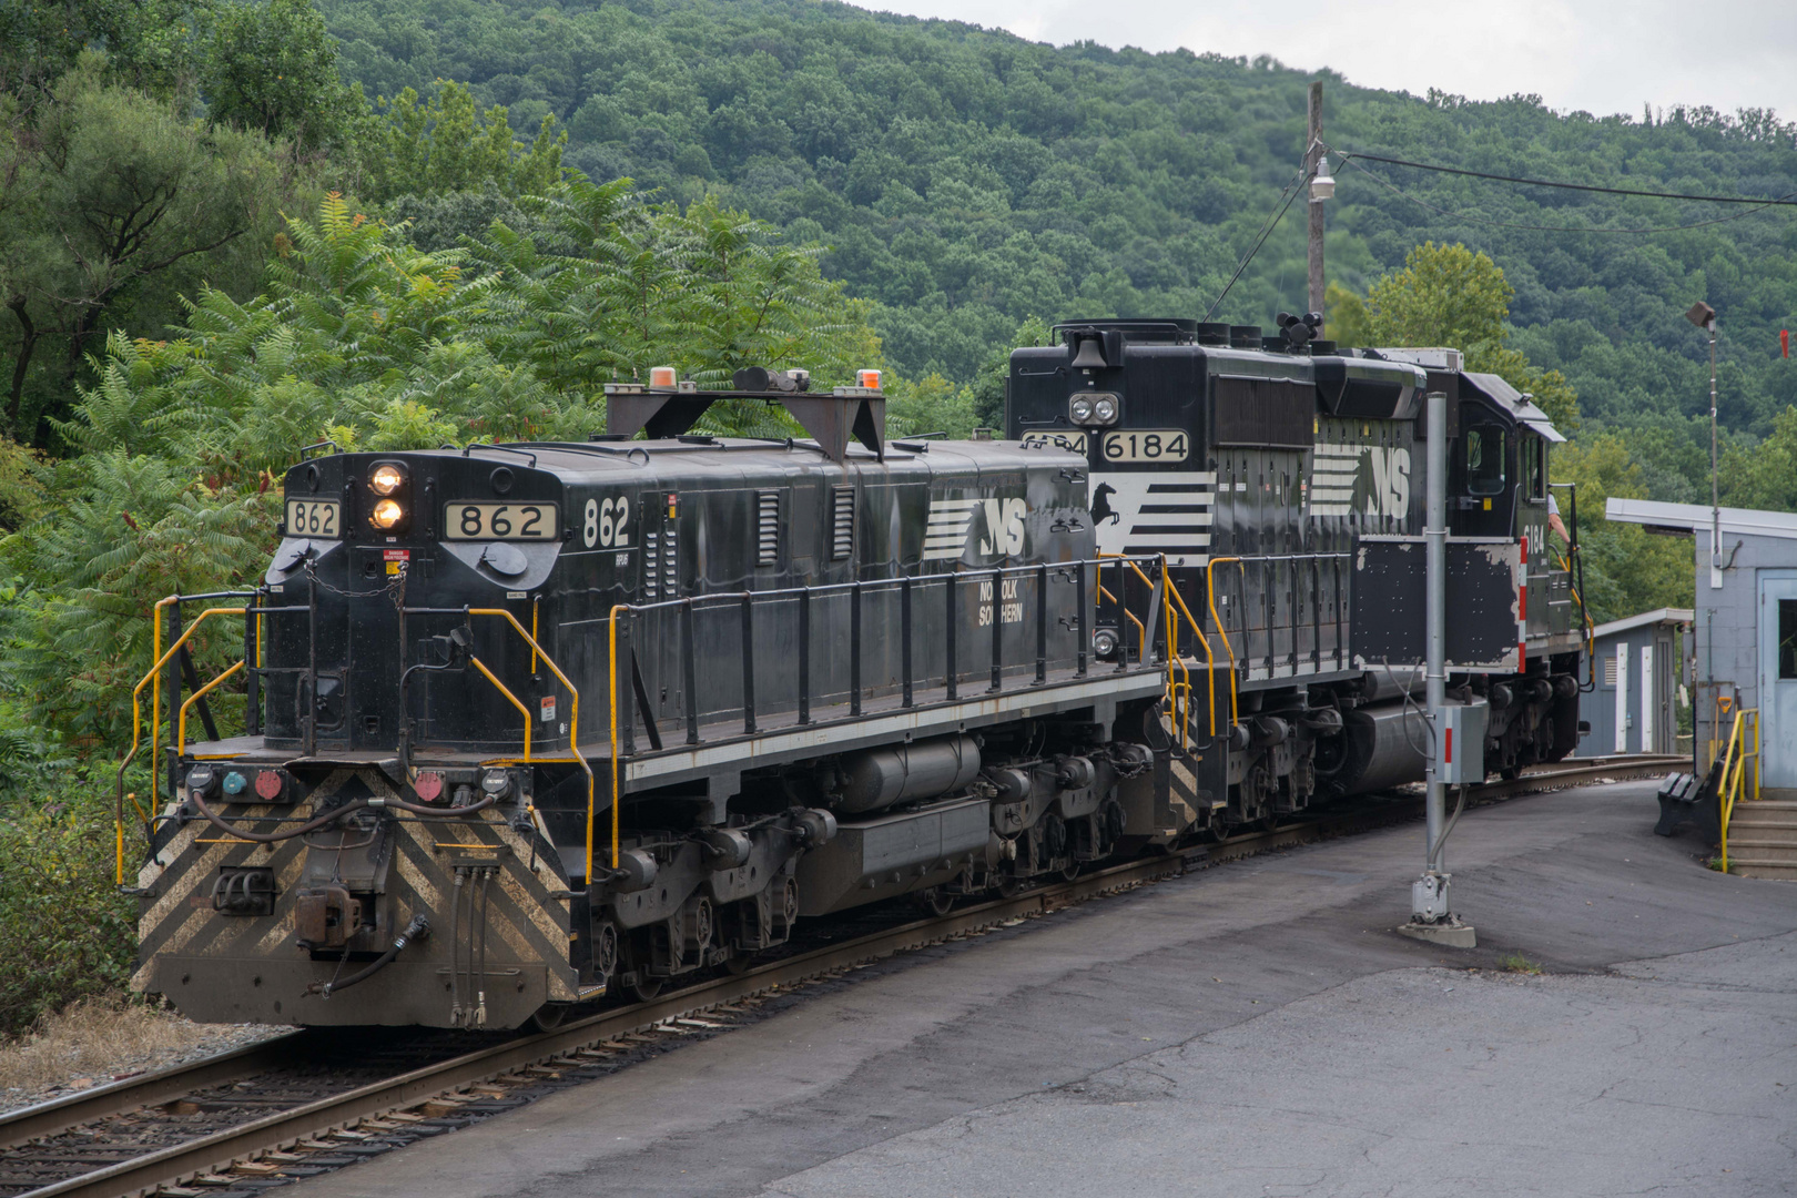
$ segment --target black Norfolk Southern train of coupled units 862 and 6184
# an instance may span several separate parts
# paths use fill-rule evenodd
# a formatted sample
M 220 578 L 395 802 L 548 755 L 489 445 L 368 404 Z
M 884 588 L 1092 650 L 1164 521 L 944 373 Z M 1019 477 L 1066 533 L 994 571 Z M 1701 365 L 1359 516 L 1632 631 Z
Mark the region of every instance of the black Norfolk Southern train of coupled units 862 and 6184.
M 659 377 L 584 444 L 295 465 L 241 605 L 158 609 L 135 984 L 205 1020 L 544 1024 L 803 916 L 1420 778 L 1425 388 L 1456 397 L 1457 693 L 1493 767 L 1563 756 L 1540 413 L 1445 356 L 1254 332 L 1066 327 L 1014 354 L 1006 440 L 888 442 L 877 377 L 744 370 L 728 395 L 812 436 L 690 435 L 726 393 Z M 244 659 L 183 695 L 214 616 Z

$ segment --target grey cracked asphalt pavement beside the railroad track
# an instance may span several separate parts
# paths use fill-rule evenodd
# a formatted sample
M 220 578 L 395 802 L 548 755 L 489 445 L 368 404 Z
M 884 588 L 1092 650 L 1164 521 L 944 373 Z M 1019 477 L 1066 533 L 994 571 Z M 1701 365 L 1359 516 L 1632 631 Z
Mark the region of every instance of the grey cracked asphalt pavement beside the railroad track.
M 286 1193 L 1797 1193 L 1797 884 L 1651 835 L 1653 788 L 1468 812 L 1470 952 L 1393 932 L 1403 824 L 907 954 Z

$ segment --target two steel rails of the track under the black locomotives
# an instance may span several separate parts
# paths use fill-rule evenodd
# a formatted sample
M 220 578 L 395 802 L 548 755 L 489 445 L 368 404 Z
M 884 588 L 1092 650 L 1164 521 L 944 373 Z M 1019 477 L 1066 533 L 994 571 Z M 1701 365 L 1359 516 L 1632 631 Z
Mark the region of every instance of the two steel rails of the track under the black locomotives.
M 1659 776 L 1686 760 L 1669 754 L 1585 758 L 1531 767 L 1520 778 L 1472 787 L 1468 805 L 1484 805 L 1518 794 L 1580 785 L 1594 778 Z M 122 1194 L 147 1194 L 160 1185 L 173 1185 L 183 1178 L 217 1173 L 232 1167 L 235 1162 L 347 1128 L 361 1119 L 415 1106 L 435 1094 L 491 1081 L 604 1040 L 642 1033 L 674 1018 L 699 1015 L 717 1006 L 753 999 L 837 970 L 925 948 L 943 939 L 981 932 L 1012 920 L 1060 911 L 1109 891 L 1132 889 L 1145 882 L 1177 876 L 1188 869 L 1202 869 L 1279 848 L 1407 823 L 1421 812 L 1421 796 L 1405 796 L 1385 799 L 1371 808 L 1297 819 L 1261 832 L 1224 837 L 1217 842 L 1195 844 L 1166 855 L 1109 866 L 1071 882 L 1031 889 L 1012 898 L 974 903 L 947 916 L 916 920 L 841 945 L 794 954 L 782 961 L 755 966 L 740 975 L 717 977 L 649 1002 L 604 1011 L 553 1031 L 507 1040 L 500 1045 L 478 1049 L 385 1081 L 363 1085 L 332 1097 L 214 1132 L 185 1144 L 162 1148 L 133 1160 L 29 1191 L 22 1198 L 120 1198 Z M 31 1139 L 56 1135 L 84 1123 L 171 1101 L 203 1085 L 216 1085 L 259 1072 L 279 1063 L 286 1053 L 297 1047 L 293 1042 L 307 1035 L 305 1031 L 289 1033 L 190 1065 L 29 1106 L 0 1117 L 0 1146 L 11 1148 Z

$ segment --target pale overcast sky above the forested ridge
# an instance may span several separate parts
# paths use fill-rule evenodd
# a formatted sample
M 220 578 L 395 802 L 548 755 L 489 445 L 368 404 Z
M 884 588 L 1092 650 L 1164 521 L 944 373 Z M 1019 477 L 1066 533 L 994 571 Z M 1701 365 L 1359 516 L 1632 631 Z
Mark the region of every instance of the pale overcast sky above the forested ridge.
M 1642 104 L 1797 120 L 1797 0 L 855 0 L 1031 41 L 1270 54 L 1369 88 L 1641 117 Z

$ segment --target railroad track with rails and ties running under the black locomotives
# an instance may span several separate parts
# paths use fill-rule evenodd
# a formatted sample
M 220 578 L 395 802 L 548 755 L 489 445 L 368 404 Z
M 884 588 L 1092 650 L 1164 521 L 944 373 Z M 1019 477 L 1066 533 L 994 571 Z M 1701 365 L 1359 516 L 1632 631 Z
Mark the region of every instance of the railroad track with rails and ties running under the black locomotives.
M 1659 776 L 1684 762 L 1677 756 L 1562 762 L 1474 787 L 1468 806 L 1596 780 Z M 667 1044 L 717 1035 L 753 1018 L 757 1006 L 782 991 L 841 977 L 898 952 L 978 936 L 1188 869 L 1371 832 L 1420 814 L 1420 796 L 1375 797 L 1351 810 L 1306 815 L 823 945 L 537 1035 L 426 1036 L 388 1029 L 347 1040 L 340 1029 L 295 1031 L 0 1117 L 0 1198 L 120 1198 L 158 1191 L 167 1198 L 246 1196 L 262 1178 L 323 1173 L 602 1078 Z

